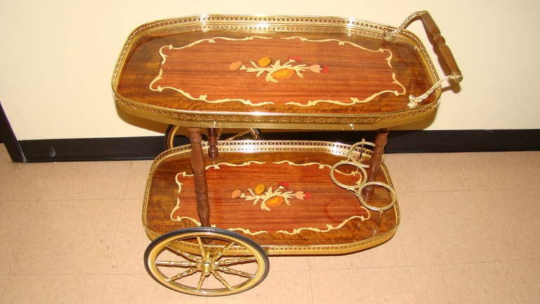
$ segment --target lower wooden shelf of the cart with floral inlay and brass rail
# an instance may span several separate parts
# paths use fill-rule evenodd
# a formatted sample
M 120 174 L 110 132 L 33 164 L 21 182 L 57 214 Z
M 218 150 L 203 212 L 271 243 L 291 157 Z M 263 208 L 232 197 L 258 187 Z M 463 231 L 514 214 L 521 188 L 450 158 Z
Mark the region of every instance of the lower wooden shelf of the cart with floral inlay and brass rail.
M 347 158 L 347 145 L 219 141 L 218 147 L 219 158 L 207 160 L 210 223 L 248 236 L 269 254 L 350 253 L 387 241 L 397 229 L 397 204 L 381 214 L 368 210 L 330 178 L 331 167 Z M 150 239 L 200 225 L 190 164 L 186 147 L 156 158 L 143 207 Z M 339 167 L 334 176 L 355 184 L 359 172 L 351 169 Z M 376 180 L 392 185 L 384 165 Z M 371 203 L 389 201 L 381 187 Z

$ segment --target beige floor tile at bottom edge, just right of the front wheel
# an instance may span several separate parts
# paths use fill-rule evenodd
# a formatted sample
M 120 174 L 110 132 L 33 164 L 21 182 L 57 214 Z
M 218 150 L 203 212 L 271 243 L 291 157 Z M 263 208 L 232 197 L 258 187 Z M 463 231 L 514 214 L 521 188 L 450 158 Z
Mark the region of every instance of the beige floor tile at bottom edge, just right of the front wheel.
M 308 271 L 272 272 L 255 288 L 232 296 L 208 298 L 208 304 L 257 303 L 257 304 L 308 304 L 311 284 Z

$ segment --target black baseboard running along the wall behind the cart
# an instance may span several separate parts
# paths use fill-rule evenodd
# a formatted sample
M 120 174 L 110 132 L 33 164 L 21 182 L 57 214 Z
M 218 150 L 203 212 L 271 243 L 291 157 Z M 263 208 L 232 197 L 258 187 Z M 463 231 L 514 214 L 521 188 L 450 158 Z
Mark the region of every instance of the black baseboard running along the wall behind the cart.
M 264 139 L 338 141 L 353 144 L 375 132 L 263 132 Z M 540 151 L 540 129 L 391 131 L 386 153 Z M 163 137 L 39 139 L 18 142 L 18 162 L 149 160 L 165 146 Z M 179 139 L 179 144 L 187 144 Z

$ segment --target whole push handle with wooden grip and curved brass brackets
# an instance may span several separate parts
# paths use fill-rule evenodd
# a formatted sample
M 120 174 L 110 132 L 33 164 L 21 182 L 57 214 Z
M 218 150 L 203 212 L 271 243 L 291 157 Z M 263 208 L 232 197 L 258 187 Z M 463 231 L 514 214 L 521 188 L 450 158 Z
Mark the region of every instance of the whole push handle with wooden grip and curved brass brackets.
M 461 70 L 459 70 L 458 64 L 456 63 L 456 58 L 454 58 L 454 55 L 452 54 L 452 51 L 450 50 L 449 46 L 446 45 L 446 40 L 444 37 L 442 37 L 441 31 L 439 30 L 439 27 L 437 26 L 437 23 L 435 23 L 435 20 L 433 20 L 432 16 L 428 11 L 418 11 L 416 13 L 412 13 L 409 15 L 406 20 L 399 25 L 395 30 L 392 30 L 391 32 L 385 33 L 385 39 L 391 40 L 393 37 L 402 30 L 404 30 L 409 23 L 411 23 L 412 20 L 416 18 L 421 18 L 422 23 L 424 25 L 425 32 L 428 34 L 428 37 L 430 38 L 430 41 L 433 44 L 433 50 L 435 53 L 438 54 L 446 63 L 446 66 L 450 69 L 451 75 L 448 75 L 444 77 L 442 80 L 454 80 L 454 82 L 459 83 L 461 80 L 463 80 L 463 75 L 461 74 Z M 442 80 L 439 80 L 431 89 L 429 89 L 425 94 L 422 94 L 418 97 L 409 96 L 409 106 L 412 108 L 413 106 L 416 106 L 420 101 L 423 101 L 425 98 L 427 98 L 439 85 L 441 84 Z

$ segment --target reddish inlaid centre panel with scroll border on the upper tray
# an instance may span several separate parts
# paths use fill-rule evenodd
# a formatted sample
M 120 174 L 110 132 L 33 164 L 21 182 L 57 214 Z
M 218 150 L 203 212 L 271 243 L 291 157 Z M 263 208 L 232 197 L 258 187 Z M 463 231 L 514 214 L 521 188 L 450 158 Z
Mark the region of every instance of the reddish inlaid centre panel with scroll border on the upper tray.
M 339 39 L 212 37 L 159 49 L 152 91 L 174 90 L 206 103 L 248 106 L 352 106 L 378 96 L 404 95 L 390 49 Z M 368 80 L 380 85 L 361 85 Z M 336 90 L 342 87 L 344 89 Z

